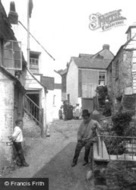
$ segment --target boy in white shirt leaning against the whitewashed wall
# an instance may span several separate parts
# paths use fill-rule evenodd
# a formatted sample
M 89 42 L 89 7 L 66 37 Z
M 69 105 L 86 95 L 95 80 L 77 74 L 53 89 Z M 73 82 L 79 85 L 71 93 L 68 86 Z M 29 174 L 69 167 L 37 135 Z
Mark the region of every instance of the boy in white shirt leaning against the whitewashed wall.
M 23 142 L 23 120 L 18 119 L 15 122 L 16 126 L 14 127 L 14 131 L 12 136 L 9 137 L 10 140 L 13 141 L 14 148 L 16 150 L 17 156 L 19 158 L 19 166 L 28 167 L 29 165 L 25 161 L 23 148 L 22 148 L 22 142 Z

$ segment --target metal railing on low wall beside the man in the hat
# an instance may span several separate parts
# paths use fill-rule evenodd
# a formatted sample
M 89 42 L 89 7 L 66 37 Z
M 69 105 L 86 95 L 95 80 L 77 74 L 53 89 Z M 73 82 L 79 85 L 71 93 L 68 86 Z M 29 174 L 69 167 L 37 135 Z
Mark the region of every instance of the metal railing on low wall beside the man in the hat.
M 94 159 L 136 161 L 136 137 L 98 135 Z

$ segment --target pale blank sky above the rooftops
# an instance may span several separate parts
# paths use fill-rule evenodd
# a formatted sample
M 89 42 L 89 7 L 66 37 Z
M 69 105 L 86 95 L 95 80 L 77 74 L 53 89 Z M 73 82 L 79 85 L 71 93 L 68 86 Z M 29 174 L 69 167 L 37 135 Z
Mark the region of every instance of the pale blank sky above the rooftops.
M 10 0 L 1 1 L 8 14 Z M 14 1 L 19 20 L 26 26 L 27 0 Z M 33 0 L 33 4 L 30 32 L 55 58 L 52 63 L 54 69 L 64 69 L 70 58 L 80 53 L 97 53 L 104 44 L 109 44 L 110 50 L 116 54 L 127 40 L 128 27 L 136 23 L 135 0 Z M 119 9 L 121 15 L 126 17 L 124 25 L 107 31 L 89 28 L 90 15 L 103 15 Z M 20 30 L 19 38 L 25 46 L 26 32 L 23 28 Z M 31 39 L 31 50 L 36 48 L 34 44 Z

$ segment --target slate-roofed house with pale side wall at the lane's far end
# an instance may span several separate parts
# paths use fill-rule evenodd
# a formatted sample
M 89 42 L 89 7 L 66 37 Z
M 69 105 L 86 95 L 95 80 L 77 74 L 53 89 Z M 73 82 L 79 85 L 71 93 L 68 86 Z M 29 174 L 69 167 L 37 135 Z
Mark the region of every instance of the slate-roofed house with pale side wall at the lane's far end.
M 93 98 L 96 96 L 96 87 L 107 84 L 107 67 L 113 54 L 109 45 L 103 45 L 101 51 L 95 55 L 80 54 L 70 60 L 66 78 L 67 100 L 82 109 L 94 109 Z

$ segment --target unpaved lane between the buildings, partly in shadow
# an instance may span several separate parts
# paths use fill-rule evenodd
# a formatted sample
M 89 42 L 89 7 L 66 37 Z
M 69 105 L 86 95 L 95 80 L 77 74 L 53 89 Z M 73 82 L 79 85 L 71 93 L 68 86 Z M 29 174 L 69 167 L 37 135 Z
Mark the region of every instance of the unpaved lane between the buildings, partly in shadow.
M 82 166 L 83 153 L 78 165 L 71 167 L 76 145 L 76 132 L 80 120 L 55 121 L 51 136 L 41 139 L 26 137 L 26 160 L 28 168 L 17 168 L 5 177 L 49 178 L 50 190 L 93 190 L 91 181 L 85 180 L 88 166 Z

